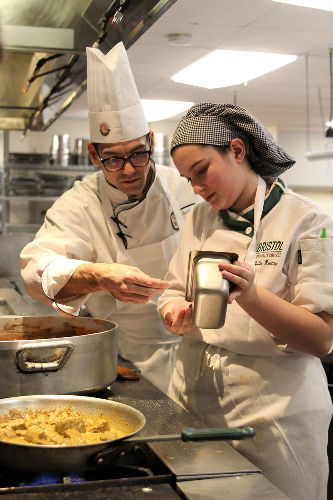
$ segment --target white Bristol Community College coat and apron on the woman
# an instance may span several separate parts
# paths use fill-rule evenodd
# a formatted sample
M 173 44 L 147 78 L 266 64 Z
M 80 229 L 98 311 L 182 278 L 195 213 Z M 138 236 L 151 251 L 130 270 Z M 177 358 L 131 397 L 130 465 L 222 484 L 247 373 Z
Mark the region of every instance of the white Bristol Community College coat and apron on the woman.
M 248 260 L 256 282 L 276 295 L 333 313 L 332 219 L 280 179 L 265 180 L 273 184 L 257 225 L 256 206 L 238 215 L 206 202 L 193 209 L 159 310 L 184 299 L 189 252 L 218 249 Z M 326 239 L 320 238 L 323 227 Z M 168 393 L 209 427 L 252 425 L 256 436 L 233 446 L 293 500 L 326 498 L 332 401 L 321 360 L 290 348 L 236 301 L 222 328 L 184 334 Z

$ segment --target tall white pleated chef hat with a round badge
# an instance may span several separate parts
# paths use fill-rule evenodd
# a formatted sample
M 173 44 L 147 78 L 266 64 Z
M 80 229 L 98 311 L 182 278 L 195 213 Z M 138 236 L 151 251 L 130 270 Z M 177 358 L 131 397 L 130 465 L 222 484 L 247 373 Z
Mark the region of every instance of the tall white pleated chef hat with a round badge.
M 90 140 L 123 142 L 149 132 L 127 53 L 122 42 L 106 55 L 86 47 Z

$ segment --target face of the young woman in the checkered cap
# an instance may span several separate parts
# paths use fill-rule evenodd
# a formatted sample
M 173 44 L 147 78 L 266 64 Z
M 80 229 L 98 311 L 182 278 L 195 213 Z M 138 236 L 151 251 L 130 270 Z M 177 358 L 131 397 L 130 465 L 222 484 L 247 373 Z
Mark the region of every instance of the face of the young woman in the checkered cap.
M 245 158 L 243 142 L 238 147 L 234 141 L 225 155 L 213 146 L 184 144 L 176 147 L 172 159 L 180 175 L 214 210 L 230 208 L 239 213 L 254 203 L 258 178 Z

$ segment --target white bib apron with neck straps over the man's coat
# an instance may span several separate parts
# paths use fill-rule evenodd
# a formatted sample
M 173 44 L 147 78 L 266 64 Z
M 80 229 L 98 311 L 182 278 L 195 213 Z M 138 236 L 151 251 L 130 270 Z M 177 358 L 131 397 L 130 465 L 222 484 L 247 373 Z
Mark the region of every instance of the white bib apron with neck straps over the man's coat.
M 117 263 L 138 267 L 152 277 L 163 279 L 180 243 L 183 215 L 175 196 L 163 180 L 160 180 L 178 223 L 179 230 L 175 234 L 156 243 L 125 249 L 121 238 L 115 234 L 114 224 L 111 222 L 109 229 L 117 246 Z M 110 207 L 110 201 L 102 199 L 102 205 Z M 111 208 L 109 209 L 111 211 Z M 106 218 L 110 221 L 109 213 L 106 213 Z M 116 299 L 116 310 L 112 312 L 110 319 L 119 324 L 119 354 L 132 361 L 148 380 L 166 392 L 180 338 L 168 332 L 157 312 L 159 295 L 152 295 L 149 302 L 143 305 Z

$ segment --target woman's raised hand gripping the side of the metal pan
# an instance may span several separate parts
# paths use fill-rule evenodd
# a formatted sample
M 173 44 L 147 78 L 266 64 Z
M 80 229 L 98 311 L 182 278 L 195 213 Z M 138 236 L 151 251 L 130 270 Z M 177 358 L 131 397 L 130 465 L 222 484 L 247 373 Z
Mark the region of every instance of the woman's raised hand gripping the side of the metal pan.
M 250 300 L 256 291 L 255 272 L 252 265 L 243 260 L 235 260 L 232 264 L 219 262 L 218 266 L 222 270 L 222 276 L 234 283 L 229 293 L 228 304 L 235 299 L 240 305 Z

